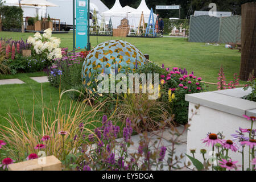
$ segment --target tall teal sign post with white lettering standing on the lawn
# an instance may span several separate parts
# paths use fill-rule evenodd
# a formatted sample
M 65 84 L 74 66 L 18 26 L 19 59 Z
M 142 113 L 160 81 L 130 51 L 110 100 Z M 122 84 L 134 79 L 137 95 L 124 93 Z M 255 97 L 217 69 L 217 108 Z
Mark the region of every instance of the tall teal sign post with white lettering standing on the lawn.
M 76 0 L 76 48 L 90 49 L 89 0 Z

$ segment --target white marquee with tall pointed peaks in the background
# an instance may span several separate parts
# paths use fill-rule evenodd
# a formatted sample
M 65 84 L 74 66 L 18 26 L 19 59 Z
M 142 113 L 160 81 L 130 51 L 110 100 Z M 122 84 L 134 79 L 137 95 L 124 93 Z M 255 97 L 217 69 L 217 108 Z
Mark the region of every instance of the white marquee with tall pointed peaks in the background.
M 120 25 L 121 20 L 123 18 L 128 18 L 129 24 L 135 21 L 136 26 L 139 25 L 139 19 L 141 18 L 141 14 L 144 14 L 145 23 L 148 22 L 148 18 L 150 16 L 150 9 L 148 9 L 145 0 L 141 1 L 141 5 L 137 9 L 134 9 L 130 6 L 122 7 L 119 0 L 115 0 L 114 6 L 112 9 L 103 12 L 105 19 L 108 21 L 111 17 L 113 28 L 117 28 Z M 154 14 L 154 18 L 156 19 L 156 14 Z

